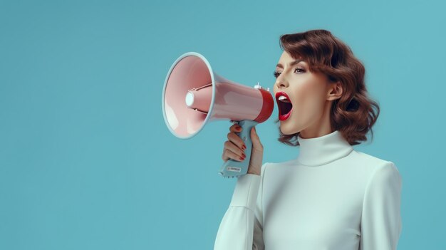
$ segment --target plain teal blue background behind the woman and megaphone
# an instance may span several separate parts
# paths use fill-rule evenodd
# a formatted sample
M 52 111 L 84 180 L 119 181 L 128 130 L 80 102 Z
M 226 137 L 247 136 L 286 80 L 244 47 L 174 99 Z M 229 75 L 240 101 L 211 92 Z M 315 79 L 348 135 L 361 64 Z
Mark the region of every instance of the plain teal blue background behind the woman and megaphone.
M 441 1 L 0 0 L 0 249 L 212 249 L 235 179 L 229 122 L 170 134 L 161 93 L 182 53 L 274 83 L 283 33 L 325 28 L 381 108 L 356 150 L 403 177 L 398 249 L 445 249 L 446 17 Z M 271 119 L 265 162 L 296 157 Z

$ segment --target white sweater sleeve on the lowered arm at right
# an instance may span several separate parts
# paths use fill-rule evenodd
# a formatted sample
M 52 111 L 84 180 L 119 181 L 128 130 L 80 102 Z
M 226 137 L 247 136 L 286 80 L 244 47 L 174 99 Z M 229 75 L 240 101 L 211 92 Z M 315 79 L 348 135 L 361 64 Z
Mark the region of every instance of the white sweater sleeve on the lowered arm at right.
M 395 250 L 401 233 L 402 179 L 393 162 L 373 173 L 363 201 L 361 250 Z

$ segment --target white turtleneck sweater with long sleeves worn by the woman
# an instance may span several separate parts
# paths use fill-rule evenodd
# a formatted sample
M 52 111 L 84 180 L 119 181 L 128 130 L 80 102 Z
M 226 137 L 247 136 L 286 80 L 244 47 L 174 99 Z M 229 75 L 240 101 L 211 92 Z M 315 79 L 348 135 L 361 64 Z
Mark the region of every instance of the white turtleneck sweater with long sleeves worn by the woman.
M 215 250 L 394 250 L 402 179 L 338 130 L 298 137 L 299 156 L 237 179 Z

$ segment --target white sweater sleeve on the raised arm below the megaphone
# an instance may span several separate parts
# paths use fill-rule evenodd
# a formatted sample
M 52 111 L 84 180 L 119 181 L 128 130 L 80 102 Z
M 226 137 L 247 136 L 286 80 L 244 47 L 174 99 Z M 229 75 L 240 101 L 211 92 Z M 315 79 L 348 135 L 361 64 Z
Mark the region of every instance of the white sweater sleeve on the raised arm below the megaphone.
M 261 175 L 242 175 L 237 179 L 231 203 L 220 223 L 214 250 L 264 250 Z

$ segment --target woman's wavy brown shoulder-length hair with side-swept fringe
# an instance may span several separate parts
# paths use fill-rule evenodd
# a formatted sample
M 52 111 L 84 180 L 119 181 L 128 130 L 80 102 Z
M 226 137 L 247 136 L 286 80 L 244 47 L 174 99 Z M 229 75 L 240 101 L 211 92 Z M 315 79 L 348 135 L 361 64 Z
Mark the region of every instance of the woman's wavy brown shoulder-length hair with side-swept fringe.
M 331 105 L 331 129 L 339 130 L 350 145 L 367 140 L 365 134 L 369 130 L 373 140 L 372 126 L 378 119 L 380 108 L 368 96 L 365 68 L 353 56 L 351 48 L 324 29 L 281 35 L 280 47 L 294 59 L 303 58 L 310 71 L 325 73 L 332 82 L 341 82 L 341 98 L 333 100 Z M 279 142 L 298 146 L 299 133 L 284 135 L 279 129 Z

